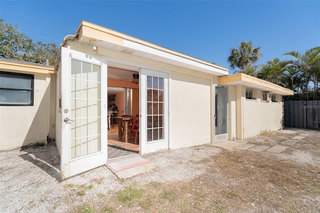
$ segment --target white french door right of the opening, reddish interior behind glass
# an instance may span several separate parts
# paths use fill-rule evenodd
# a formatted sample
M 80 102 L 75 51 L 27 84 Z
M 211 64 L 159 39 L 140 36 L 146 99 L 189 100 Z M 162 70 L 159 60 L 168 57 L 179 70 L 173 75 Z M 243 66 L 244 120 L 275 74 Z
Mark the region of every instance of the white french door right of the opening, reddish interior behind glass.
M 140 69 L 140 154 L 168 148 L 168 73 Z

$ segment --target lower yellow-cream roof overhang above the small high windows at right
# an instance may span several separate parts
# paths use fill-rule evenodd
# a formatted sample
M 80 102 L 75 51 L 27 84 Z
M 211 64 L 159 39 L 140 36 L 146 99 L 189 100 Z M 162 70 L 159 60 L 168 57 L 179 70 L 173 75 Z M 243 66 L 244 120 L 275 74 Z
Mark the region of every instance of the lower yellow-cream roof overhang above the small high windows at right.
M 226 85 L 226 86 L 241 85 L 241 86 L 245 86 L 252 89 L 260 89 L 262 91 L 268 91 L 273 94 L 293 95 L 293 91 L 291 89 L 287 89 L 277 84 L 274 84 L 274 83 L 271 83 L 247 74 L 243 74 L 243 73 L 232 74 L 228 76 L 220 76 L 219 84 Z

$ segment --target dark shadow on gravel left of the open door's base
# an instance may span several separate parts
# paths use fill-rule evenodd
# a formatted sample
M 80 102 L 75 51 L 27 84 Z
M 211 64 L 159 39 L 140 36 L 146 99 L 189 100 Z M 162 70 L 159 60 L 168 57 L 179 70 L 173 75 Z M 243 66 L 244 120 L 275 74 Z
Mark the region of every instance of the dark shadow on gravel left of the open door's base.
M 60 155 L 51 141 L 44 146 L 30 145 L 23 149 L 24 154 L 19 156 L 41 168 L 47 174 L 60 181 Z

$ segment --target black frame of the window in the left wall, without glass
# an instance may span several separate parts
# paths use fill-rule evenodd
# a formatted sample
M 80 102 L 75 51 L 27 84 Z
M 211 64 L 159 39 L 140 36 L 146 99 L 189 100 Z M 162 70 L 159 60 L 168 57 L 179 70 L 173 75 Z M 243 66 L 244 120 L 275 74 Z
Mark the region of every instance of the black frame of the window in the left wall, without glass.
M 1 71 L 2 74 L 8 74 L 8 75 L 15 75 L 15 76 L 28 76 L 30 77 L 30 89 L 21 89 L 21 88 L 6 88 L 6 87 L 0 87 L 1 89 L 7 89 L 7 90 L 27 90 L 30 91 L 30 102 L 29 103 L 2 103 L 0 102 L 0 106 L 33 106 L 33 97 L 34 97 L 34 74 L 26 74 L 26 73 L 19 73 L 19 72 L 7 72 L 7 71 Z M 12 77 L 13 77 L 12 76 Z

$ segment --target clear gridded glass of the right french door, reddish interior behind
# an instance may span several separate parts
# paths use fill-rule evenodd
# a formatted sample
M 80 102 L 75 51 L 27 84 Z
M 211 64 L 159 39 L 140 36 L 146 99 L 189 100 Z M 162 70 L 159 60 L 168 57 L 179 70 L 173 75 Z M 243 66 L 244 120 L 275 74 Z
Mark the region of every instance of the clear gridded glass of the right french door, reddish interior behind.
M 147 141 L 164 138 L 163 133 L 163 88 L 164 79 L 147 76 Z M 161 115 L 161 116 L 159 116 Z

